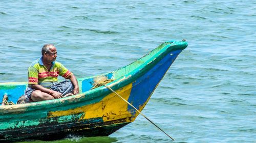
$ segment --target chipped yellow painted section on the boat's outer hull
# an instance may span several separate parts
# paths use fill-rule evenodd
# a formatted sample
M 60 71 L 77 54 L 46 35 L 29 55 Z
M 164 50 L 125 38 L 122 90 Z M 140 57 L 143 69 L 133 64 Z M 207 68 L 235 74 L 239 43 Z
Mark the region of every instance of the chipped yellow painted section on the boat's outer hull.
M 128 100 L 132 90 L 132 85 L 133 84 L 130 83 L 125 87 L 117 90 L 116 92 L 121 95 L 125 100 Z M 131 119 L 132 114 L 127 110 L 127 106 L 127 103 L 125 103 L 120 97 L 118 97 L 114 93 L 111 93 L 97 103 L 69 110 L 49 112 L 48 118 L 84 113 L 84 116 L 81 116 L 79 121 L 102 118 L 102 120 L 106 122 L 126 118 L 126 122 L 133 122 L 135 118 Z

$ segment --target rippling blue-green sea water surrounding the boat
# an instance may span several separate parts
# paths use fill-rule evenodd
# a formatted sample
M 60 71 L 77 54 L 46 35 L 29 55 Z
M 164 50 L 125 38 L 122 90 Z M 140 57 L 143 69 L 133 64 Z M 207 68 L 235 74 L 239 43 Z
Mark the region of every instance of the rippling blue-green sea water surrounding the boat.
M 256 142 L 255 1 L 2 0 L 0 22 L 0 82 L 27 81 L 46 43 L 85 77 L 130 64 L 163 41 L 186 39 L 142 112 L 173 142 Z M 109 137 L 51 142 L 170 141 L 139 116 Z

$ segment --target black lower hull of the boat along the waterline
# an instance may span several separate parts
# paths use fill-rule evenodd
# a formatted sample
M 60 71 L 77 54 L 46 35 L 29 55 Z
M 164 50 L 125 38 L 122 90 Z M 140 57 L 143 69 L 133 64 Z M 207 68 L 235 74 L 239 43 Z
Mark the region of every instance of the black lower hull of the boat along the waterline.
M 47 125 L 41 128 L 31 127 L 26 129 L 19 129 L 18 131 L 10 130 L 8 131 L 8 136 L 11 138 L 5 138 L 4 140 L 1 140 L 1 142 L 15 142 L 24 140 L 50 141 L 68 138 L 70 136 L 108 136 L 127 124 L 129 123 L 123 123 L 123 120 L 118 120 L 96 124 L 70 122 L 63 125 Z M 55 127 L 53 128 L 52 126 Z

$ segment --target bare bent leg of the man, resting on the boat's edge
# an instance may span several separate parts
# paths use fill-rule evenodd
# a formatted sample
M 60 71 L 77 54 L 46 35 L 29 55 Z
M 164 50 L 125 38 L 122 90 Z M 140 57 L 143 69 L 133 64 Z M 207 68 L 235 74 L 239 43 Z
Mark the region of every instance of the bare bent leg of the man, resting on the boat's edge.
M 34 102 L 54 99 L 53 96 L 51 96 L 47 93 L 41 92 L 39 90 L 33 91 L 31 93 L 30 97 L 31 97 L 32 101 L 34 101 Z

